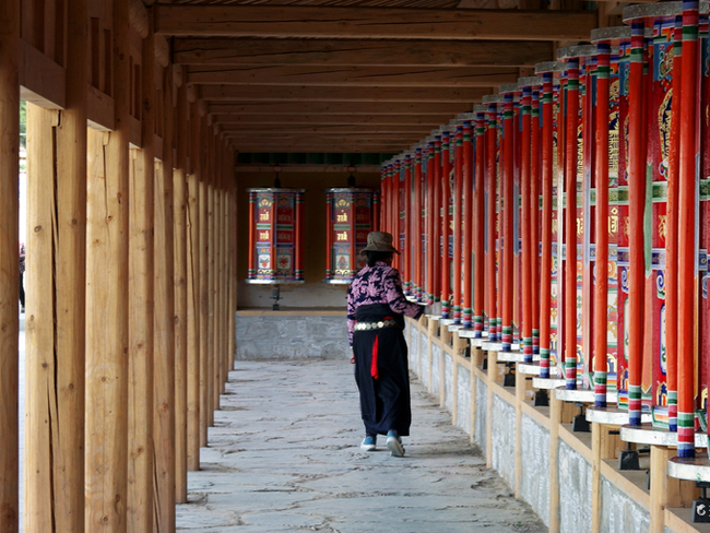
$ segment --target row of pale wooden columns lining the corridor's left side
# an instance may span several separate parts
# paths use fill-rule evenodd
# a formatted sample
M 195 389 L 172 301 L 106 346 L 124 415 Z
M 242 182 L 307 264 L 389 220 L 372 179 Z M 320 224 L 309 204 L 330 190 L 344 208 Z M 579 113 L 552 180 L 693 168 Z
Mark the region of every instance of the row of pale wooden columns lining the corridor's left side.
M 23 531 L 175 531 L 234 360 L 234 156 L 140 1 L 3 2 L 0 59 L 0 531 L 22 512 L 21 94 Z

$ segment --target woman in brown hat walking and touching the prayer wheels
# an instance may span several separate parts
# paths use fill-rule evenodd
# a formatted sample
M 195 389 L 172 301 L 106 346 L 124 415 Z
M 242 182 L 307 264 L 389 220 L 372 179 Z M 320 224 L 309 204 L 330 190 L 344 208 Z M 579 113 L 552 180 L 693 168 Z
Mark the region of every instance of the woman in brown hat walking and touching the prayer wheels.
M 347 330 L 355 358 L 365 439 L 360 448 L 374 451 L 377 436 L 387 435 L 387 448 L 404 455 L 402 437 L 410 435 L 410 375 L 404 342 L 404 316 L 418 319 L 424 306 L 406 300 L 400 272 L 392 268 L 399 253 L 392 235 L 370 232 L 360 252 L 367 257 L 347 291 Z

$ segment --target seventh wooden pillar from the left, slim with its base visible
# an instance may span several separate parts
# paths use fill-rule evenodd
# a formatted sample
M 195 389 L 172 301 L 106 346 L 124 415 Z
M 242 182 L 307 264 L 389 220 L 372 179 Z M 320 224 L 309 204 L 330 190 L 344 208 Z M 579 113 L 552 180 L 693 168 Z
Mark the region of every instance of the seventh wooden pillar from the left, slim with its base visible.
M 178 103 L 182 102 L 180 98 Z M 187 100 L 186 106 L 187 106 Z M 198 118 L 190 109 L 190 171 L 187 177 L 187 292 L 188 292 L 188 469 L 200 470 L 200 447 L 206 443 L 202 419 L 204 370 L 200 342 L 200 176 L 197 165 Z M 178 111 L 179 112 L 179 111 Z M 178 119 L 179 119 L 178 114 Z

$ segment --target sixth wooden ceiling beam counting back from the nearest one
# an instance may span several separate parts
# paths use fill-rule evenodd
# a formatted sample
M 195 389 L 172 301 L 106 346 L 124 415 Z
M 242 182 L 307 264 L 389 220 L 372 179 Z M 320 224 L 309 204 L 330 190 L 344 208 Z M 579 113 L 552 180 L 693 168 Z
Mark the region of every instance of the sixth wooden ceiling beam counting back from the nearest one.
M 452 115 L 289 115 L 288 126 L 295 125 L 401 125 L 430 126 L 433 129 L 448 123 Z M 213 115 L 215 123 L 239 125 L 283 125 L 284 117 L 279 115 Z

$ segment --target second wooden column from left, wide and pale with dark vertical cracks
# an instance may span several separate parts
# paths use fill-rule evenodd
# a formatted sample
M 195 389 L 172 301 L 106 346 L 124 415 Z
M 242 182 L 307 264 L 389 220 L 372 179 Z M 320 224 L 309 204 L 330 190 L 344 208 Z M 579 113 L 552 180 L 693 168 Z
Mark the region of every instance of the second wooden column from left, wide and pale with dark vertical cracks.
M 71 49 L 86 50 L 86 2 L 71 2 Z M 25 386 L 36 393 L 25 403 L 23 528 L 38 533 L 84 531 L 86 69 L 79 51 L 67 60 L 67 108 L 27 106 Z

